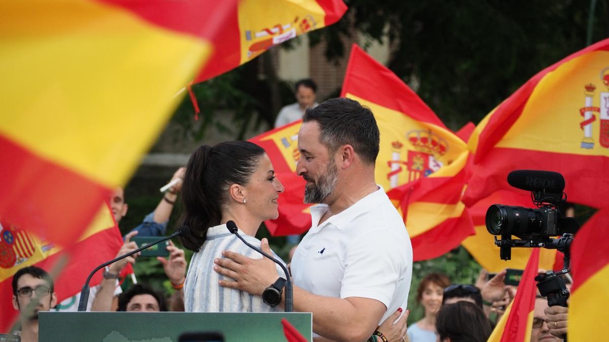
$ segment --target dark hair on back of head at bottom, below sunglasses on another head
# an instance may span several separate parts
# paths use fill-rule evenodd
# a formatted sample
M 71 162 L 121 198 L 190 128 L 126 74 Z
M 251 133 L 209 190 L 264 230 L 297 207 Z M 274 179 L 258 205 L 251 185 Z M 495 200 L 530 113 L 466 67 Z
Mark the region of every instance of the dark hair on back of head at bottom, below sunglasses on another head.
M 460 301 L 440 307 L 435 331 L 440 341 L 450 338 L 451 342 L 486 342 L 492 329 L 478 305 Z

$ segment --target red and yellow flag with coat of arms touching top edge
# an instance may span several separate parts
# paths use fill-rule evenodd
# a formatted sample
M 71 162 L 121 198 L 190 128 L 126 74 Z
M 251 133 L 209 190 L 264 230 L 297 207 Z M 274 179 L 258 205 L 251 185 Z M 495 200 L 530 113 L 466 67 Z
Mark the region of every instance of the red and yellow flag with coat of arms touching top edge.
M 347 11 L 342 0 L 242 0 L 219 23 L 209 63 L 195 82 L 203 82 L 247 63 L 270 47 L 336 23 Z

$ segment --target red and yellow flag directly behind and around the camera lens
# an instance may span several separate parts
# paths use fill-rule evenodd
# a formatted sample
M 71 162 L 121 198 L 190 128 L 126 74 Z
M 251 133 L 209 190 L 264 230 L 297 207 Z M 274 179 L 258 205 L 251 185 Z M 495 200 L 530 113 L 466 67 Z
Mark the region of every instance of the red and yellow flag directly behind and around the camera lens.
M 530 194 L 527 194 L 523 190 L 497 190 L 489 197 L 478 201 L 469 208 L 476 234 L 463 240 L 462 245 L 490 273 L 498 273 L 504 268 L 524 270 L 533 251 L 532 248 L 512 248 L 511 260 L 501 260 L 499 258 L 499 247 L 495 245 L 495 237 L 487 231 L 485 224 L 488 207 L 492 204 L 533 207 Z M 516 237 L 513 238 L 518 239 Z M 562 266 L 562 253 L 542 248 L 540 251 L 539 267 L 544 270 L 553 270 L 555 269 L 557 258 L 560 259 L 560 266 Z

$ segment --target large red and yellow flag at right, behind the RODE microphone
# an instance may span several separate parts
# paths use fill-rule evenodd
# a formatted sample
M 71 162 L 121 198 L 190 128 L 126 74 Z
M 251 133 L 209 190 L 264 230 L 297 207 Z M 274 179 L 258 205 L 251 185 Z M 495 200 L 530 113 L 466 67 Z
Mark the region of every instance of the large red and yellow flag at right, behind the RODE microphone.
M 476 153 L 463 201 L 512 189 L 516 169 L 565 176 L 568 199 L 609 206 L 609 39 L 549 66 L 491 111 L 470 139 Z

